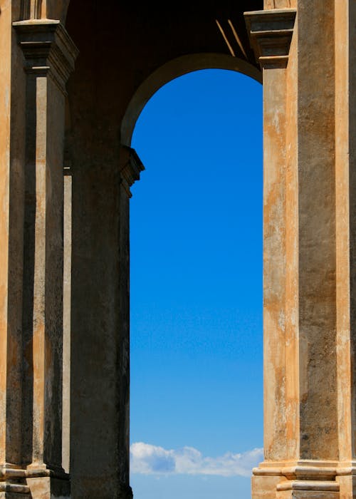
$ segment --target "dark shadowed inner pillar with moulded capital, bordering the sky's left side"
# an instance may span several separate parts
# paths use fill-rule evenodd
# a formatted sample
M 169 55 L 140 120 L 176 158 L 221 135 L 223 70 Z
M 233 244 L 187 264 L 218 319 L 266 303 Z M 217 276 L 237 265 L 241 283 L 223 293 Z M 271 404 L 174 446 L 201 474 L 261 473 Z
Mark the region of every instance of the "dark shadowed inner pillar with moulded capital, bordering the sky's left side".
M 88 163 L 79 148 L 71 157 L 73 499 L 132 499 L 129 205 L 143 165 L 135 150 L 114 144 L 101 154 L 94 139 Z

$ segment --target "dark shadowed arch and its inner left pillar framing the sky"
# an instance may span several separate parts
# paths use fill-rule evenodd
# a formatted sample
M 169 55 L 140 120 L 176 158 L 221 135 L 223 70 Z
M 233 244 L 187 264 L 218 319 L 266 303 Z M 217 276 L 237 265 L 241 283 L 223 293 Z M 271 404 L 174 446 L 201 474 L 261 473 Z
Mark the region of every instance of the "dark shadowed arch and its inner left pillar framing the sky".
M 107 9 L 106 4 L 104 9 Z M 98 12 L 91 6 L 85 11 L 83 19 L 83 12 L 80 9 L 76 10 L 73 4 L 68 10 L 67 19 L 68 31 L 73 34 L 80 47 L 76 71 L 68 83 L 73 126 L 67 140 L 68 155 L 73 165 L 72 264 L 75 274 L 72 280 L 70 456 L 73 463 L 71 466 L 73 495 L 79 497 L 85 493 L 88 484 L 93 483 L 93 473 L 98 480 L 101 480 L 100 477 L 103 475 L 109 477 L 108 480 L 104 480 L 108 484 L 108 490 L 110 487 L 115 490 L 121 488 L 122 493 L 130 494 L 127 476 L 129 458 L 127 433 L 129 200 L 127 195 L 130 196 L 130 185 L 137 180 L 142 168 L 140 158 L 137 158 L 135 152 L 128 147 L 135 119 L 152 93 L 179 74 L 209 67 L 241 69 L 247 73 L 251 72 L 255 78 L 260 78 L 261 74 L 251 57 L 251 49 L 248 48 L 241 5 L 239 9 L 230 4 L 211 5 L 206 11 L 194 4 L 189 6 L 184 14 L 179 13 L 177 9 L 178 17 L 174 19 L 174 23 L 172 17 L 169 16 L 168 22 L 164 11 L 157 9 L 155 23 L 150 22 L 150 24 L 145 22 L 142 13 L 140 16 L 133 16 L 129 6 L 115 17 L 113 11 L 117 9 L 117 5 L 112 3 L 110 12 L 105 18 L 108 24 L 100 24 Z M 229 48 L 216 24 L 216 19 L 225 31 L 229 29 L 229 37 L 234 40 L 231 41 L 234 52 L 240 55 L 241 48 L 227 22 L 230 18 L 234 29 L 237 29 L 237 25 L 244 27 L 241 32 L 239 31 L 239 39 L 243 43 L 247 57 L 234 57 L 231 53 L 229 55 Z M 114 26 L 115 19 L 120 19 L 122 29 L 117 30 L 117 26 Z M 180 37 L 179 26 L 183 26 L 187 19 L 189 19 L 189 33 L 194 39 L 192 44 L 187 43 L 187 38 Z M 155 51 L 150 52 L 150 57 L 147 57 L 145 53 L 147 37 L 152 37 L 159 43 L 157 30 L 167 22 L 165 29 L 174 30 L 172 37 L 177 39 L 177 45 L 175 48 L 172 47 L 172 51 L 167 55 L 167 48 L 159 44 Z M 109 29 L 109 25 L 112 29 Z M 127 31 L 129 26 L 131 26 L 129 31 L 136 26 L 137 35 L 140 36 L 132 38 L 131 33 Z M 196 36 L 197 29 L 206 35 Z M 93 44 L 90 45 L 88 36 L 91 36 L 92 32 L 95 32 L 96 41 L 92 38 Z M 75 33 L 78 38 L 75 38 Z M 129 35 L 130 43 L 127 42 Z M 117 36 L 121 41 L 118 41 Z M 97 55 L 98 40 L 100 43 L 105 40 L 105 51 L 100 52 L 100 56 Z M 120 63 L 112 64 L 112 61 L 117 60 L 117 47 L 119 47 L 118 53 L 121 53 L 120 43 L 125 46 L 126 55 L 132 53 L 132 58 L 125 56 L 124 59 L 120 59 Z M 142 60 L 140 71 L 132 68 L 137 50 Z M 105 68 L 105 78 L 99 77 L 98 71 L 95 70 L 96 64 L 103 70 Z M 83 92 L 83 80 L 90 82 L 85 87 L 85 92 Z M 93 102 L 96 103 L 95 107 L 98 106 L 95 113 L 92 108 Z M 93 130 L 94 122 L 93 134 L 90 130 Z M 75 123 L 80 123 L 80 126 L 76 127 Z M 115 212 L 120 213 L 120 220 L 116 222 Z M 103 215 L 104 213 L 106 215 Z M 115 249 L 117 247 L 120 247 L 118 253 Z M 90 284 L 93 281 L 100 283 L 96 289 Z M 85 287 L 88 288 L 88 292 L 83 294 Z M 98 292 L 100 297 L 97 295 Z M 80 313 L 82 307 L 88 307 L 87 317 L 83 317 Z M 91 349 L 93 344 L 98 342 L 97 331 L 102 331 L 103 342 L 100 344 L 100 356 L 98 359 L 93 359 Z M 119 336 L 115 336 L 117 331 Z M 105 363 L 105 374 L 103 363 Z M 90 397 L 83 396 L 84 386 Z M 82 399 L 86 400 L 87 397 L 90 406 L 83 404 Z M 101 408 L 103 398 L 105 398 L 105 426 Z M 83 447 L 78 445 L 81 441 Z M 88 445 L 97 446 L 99 449 L 100 457 L 95 470 L 88 461 L 90 453 Z M 117 448 L 120 449 L 120 454 L 117 453 Z M 121 463 L 120 473 L 116 476 L 112 475 L 115 470 L 112 460 Z M 98 493 L 101 488 L 102 485 L 98 482 Z

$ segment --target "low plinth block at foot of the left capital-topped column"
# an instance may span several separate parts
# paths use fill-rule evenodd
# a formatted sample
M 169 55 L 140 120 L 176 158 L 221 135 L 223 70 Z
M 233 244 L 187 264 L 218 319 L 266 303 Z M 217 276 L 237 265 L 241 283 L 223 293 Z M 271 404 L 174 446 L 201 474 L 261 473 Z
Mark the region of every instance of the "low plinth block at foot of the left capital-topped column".
M 31 499 L 70 499 L 70 481 L 66 478 L 41 476 L 27 478 L 26 483 Z

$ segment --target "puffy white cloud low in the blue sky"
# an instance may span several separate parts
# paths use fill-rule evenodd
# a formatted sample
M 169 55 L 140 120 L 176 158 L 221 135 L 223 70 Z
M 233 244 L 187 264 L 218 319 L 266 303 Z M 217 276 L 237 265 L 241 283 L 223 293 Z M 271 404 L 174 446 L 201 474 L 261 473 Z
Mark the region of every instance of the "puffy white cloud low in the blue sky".
M 217 458 L 204 457 L 193 447 L 177 450 L 137 442 L 130 446 L 132 473 L 162 475 L 187 473 L 189 475 L 250 476 L 251 470 L 263 460 L 263 449 L 234 454 L 228 452 Z

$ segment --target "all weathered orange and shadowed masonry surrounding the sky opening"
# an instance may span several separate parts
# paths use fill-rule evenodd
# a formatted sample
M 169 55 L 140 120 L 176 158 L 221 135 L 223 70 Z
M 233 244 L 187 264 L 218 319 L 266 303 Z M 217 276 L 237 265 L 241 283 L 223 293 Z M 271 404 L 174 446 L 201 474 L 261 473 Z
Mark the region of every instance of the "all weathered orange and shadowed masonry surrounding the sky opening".
M 355 58 L 355 0 L 0 0 L 0 499 L 132 497 L 130 140 L 202 68 L 263 81 L 252 497 L 356 498 Z

